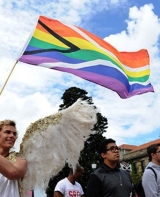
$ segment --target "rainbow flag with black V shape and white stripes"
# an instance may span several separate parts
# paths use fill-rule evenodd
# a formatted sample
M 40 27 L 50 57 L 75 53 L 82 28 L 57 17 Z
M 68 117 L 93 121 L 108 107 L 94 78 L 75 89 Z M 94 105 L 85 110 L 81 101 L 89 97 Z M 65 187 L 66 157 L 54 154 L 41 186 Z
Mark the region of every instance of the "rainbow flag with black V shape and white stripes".
M 109 88 L 121 98 L 154 92 L 147 50 L 119 52 L 96 35 L 40 16 L 19 61 L 71 73 Z

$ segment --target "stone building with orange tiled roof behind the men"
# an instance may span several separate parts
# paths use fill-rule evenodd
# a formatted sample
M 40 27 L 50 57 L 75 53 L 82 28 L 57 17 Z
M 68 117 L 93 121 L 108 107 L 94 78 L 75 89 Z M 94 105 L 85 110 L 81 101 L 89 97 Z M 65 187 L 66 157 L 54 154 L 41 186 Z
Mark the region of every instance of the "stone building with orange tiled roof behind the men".
M 132 172 L 134 174 L 142 174 L 149 160 L 147 156 L 147 147 L 151 144 L 160 143 L 160 139 L 141 144 L 140 146 L 122 144 L 119 146 L 120 161 L 125 161 L 132 165 Z

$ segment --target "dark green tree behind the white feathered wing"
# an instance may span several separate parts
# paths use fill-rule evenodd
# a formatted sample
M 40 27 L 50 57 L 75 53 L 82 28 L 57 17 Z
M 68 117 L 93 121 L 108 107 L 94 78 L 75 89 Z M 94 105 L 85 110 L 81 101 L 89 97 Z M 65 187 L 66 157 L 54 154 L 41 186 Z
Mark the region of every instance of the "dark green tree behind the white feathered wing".
M 59 107 L 59 110 L 66 109 L 71 106 L 77 99 L 87 100 L 89 104 L 93 104 L 92 97 L 87 96 L 87 92 L 77 87 L 71 87 L 67 89 L 63 96 L 63 104 Z M 84 175 L 81 180 L 81 185 L 85 192 L 87 181 L 90 173 L 93 171 L 92 164 L 96 164 L 97 167 L 101 163 L 101 158 L 98 153 L 99 144 L 104 139 L 103 133 L 106 132 L 108 127 L 108 121 L 106 117 L 103 117 L 101 113 L 97 113 L 97 123 L 94 125 L 94 130 L 97 131 L 96 134 L 90 135 L 90 137 L 85 141 L 84 149 L 80 153 L 79 163 L 84 167 Z M 47 197 L 53 197 L 53 191 L 57 182 L 64 177 L 68 176 L 69 167 L 66 163 L 62 171 L 60 171 L 56 176 L 53 176 L 46 189 Z

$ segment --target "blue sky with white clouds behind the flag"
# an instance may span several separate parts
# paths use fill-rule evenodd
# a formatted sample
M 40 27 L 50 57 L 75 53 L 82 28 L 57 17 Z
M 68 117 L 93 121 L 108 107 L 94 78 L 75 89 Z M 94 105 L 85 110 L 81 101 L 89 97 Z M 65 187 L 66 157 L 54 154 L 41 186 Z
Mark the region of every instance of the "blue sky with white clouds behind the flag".
M 63 93 L 74 86 L 86 90 L 88 96 L 93 98 L 101 114 L 108 119 L 105 136 L 115 139 L 118 145 L 140 145 L 158 139 L 159 10 L 159 0 L 0 1 L 1 90 L 4 87 L 0 95 L 0 120 L 16 121 L 19 138 L 15 150 L 19 150 L 30 123 L 56 113 L 63 103 Z M 71 74 L 21 62 L 16 64 L 40 15 L 82 27 L 118 51 L 147 49 L 150 56 L 150 82 L 155 92 L 121 99 L 115 92 Z M 45 196 L 44 192 L 36 192 L 36 197 Z

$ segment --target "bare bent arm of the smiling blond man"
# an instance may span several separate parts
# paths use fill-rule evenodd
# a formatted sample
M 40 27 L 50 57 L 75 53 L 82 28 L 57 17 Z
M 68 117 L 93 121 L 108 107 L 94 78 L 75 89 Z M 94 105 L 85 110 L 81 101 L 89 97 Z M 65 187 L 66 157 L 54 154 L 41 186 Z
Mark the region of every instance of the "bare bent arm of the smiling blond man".
M 27 170 L 27 161 L 22 157 L 17 157 L 15 162 L 11 162 L 0 155 L 0 173 L 9 180 L 23 178 Z

